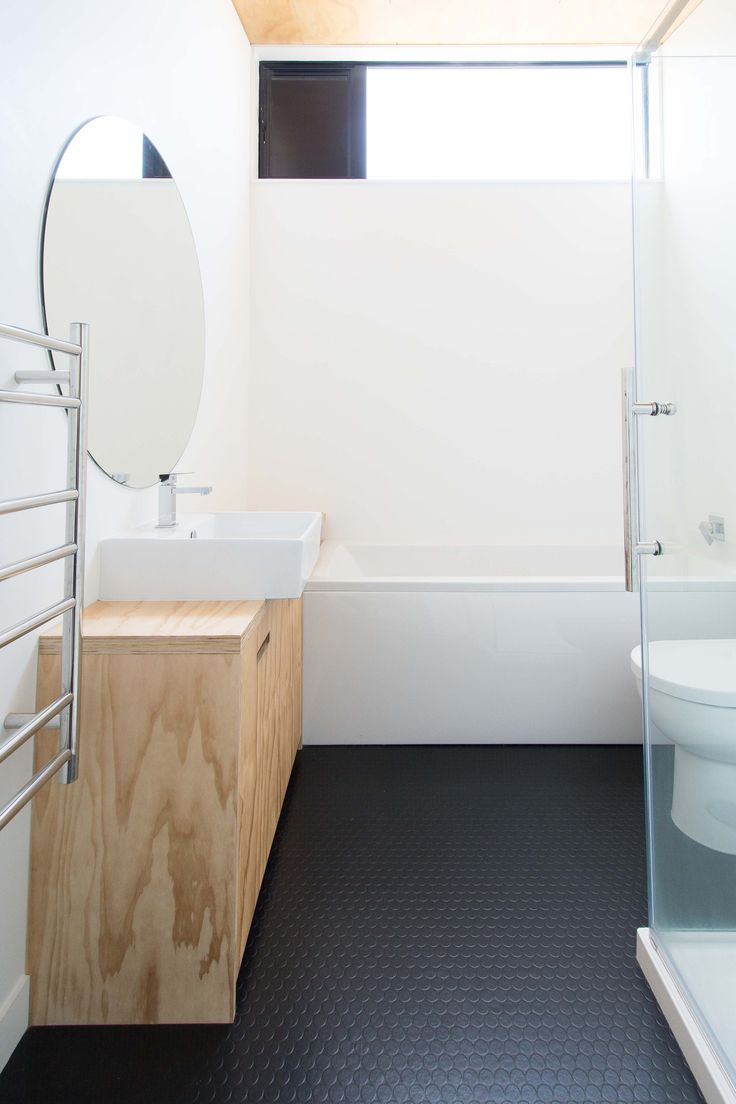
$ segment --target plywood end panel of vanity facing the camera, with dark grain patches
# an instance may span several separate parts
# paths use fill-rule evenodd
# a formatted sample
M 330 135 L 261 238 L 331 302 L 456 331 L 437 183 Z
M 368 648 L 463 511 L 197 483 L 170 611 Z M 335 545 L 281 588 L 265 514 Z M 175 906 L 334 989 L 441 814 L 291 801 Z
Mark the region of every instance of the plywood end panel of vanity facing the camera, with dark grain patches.
M 32 1023 L 232 1019 L 238 662 L 84 656 L 79 778 L 33 806 Z

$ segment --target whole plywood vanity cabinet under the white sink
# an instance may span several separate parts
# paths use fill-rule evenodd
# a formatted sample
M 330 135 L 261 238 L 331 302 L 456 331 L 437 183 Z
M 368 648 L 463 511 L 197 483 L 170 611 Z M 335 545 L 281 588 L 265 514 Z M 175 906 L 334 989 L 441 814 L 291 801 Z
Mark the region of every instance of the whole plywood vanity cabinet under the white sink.
M 45 637 L 39 705 L 57 686 Z M 79 779 L 33 807 L 32 1023 L 233 1019 L 300 740 L 301 599 L 86 611 Z

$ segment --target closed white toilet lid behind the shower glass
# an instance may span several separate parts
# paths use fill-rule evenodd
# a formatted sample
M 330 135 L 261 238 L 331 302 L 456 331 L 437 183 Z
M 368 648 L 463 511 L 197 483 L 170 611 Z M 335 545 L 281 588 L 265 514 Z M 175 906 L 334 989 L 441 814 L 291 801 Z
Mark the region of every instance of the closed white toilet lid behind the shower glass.
M 641 648 L 631 652 L 641 678 Z M 649 684 L 672 698 L 736 707 L 736 640 L 650 640 Z

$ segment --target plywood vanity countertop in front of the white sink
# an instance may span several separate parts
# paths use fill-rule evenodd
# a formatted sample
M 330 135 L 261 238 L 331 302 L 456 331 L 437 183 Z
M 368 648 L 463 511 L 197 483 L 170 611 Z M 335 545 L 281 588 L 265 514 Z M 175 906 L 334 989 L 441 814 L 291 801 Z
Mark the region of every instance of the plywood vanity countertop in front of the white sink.
M 84 611 L 86 652 L 238 652 L 264 602 L 95 602 Z M 39 640 L 60 650 L 61 622 Z

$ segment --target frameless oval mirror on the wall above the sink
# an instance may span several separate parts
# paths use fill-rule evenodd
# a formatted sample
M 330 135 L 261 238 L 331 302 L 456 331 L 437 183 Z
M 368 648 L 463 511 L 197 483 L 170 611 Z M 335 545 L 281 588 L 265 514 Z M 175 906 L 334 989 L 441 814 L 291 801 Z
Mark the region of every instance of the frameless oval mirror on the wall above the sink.
M 204 308 L 181 195 L 135 124 L 92 119 L 65 146 L 46 200 L 41 287 L 49 333 L 90 325 L 93 459 L 117 482 L 153 486 L 194 426 Z

